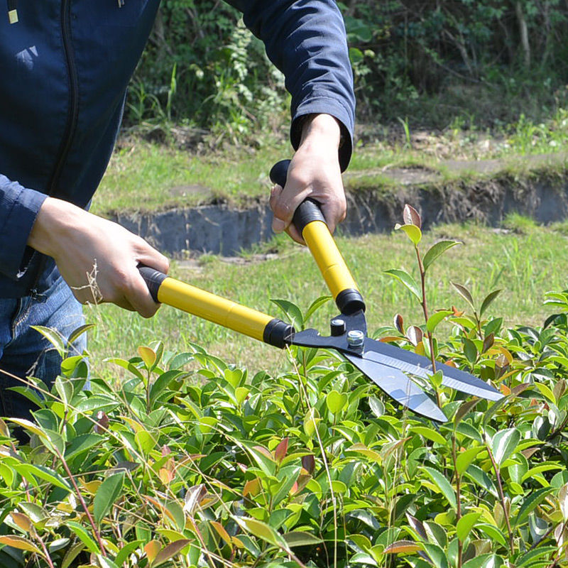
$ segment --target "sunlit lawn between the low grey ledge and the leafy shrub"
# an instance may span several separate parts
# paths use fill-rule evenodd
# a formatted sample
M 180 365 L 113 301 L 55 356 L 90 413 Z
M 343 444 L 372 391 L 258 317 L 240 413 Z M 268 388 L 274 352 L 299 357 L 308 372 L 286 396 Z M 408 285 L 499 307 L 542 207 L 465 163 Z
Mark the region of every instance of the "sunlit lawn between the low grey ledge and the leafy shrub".
M 550 310 L 542 305 L 548 290 L 567 288 L 562 267 L 568 266 L 568 240 L 565 224 L 545 227 L 508 219 L 515 230 L 489 229 L 476 224 L 449 224 L 428 231 L 424 250 L 437 239 L 457 239 L 454 247 L 432 267 L 427 277 L 431 310 L 456 305 L 466 309 L 450 281 L 466 285 L 476 299 L 495 288 L 503 292 L 491 305 L 492 315 L 504 317 L 506 324 L 540 325 Z M 529 229 L 519 231 L 519 228 Z M 400 313 L 405 325 L 420 324 L 420 308 L 400 284 L 383 274 L 389 268 L 405 268 L 415 273 L 413 252 L 405 236 L 366 235 L 338 238 L 367 302 L 370 332 L 391 324 Z M 256 261 L 246 255 L 242 263 L 226 263 L 209 256 L 200 266 L 174 265 L 172 274 L 231 300 L 244 303 L 275 317 L 283 317 L 271 298 L 285 298 L 306 310 L 320 295 L 327 294 L 323 280 L 307 251 L 281 237 L 275 244 L 277 258 Z M 260 252 L 260 251 L 259 251 Z M 560 267 L 560 268 L 559 268 Z M 166 349 L 183 351 L 187 342 L 197 342 L 212 354 L 245 365 L 250 372 L 263 368 L 275 370 L 285 361 L 285 353 L 222 327 L 163 306 L 152 320 L 124 312 L 111 305 L 87 307 L 87 320 L 97 323 L 90 335 L 94 373 L 109 373 L 111 366 L 101 361 L 109 356 L 133 356 L 141 344 L 155 339 L 165 342 Z M 329 303 L 311 322 L 327 334 L 328 319 L 336 312 Z M 447 333 L 449 329 L 442 329 Z

